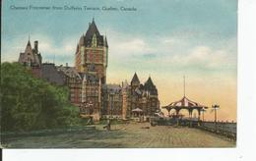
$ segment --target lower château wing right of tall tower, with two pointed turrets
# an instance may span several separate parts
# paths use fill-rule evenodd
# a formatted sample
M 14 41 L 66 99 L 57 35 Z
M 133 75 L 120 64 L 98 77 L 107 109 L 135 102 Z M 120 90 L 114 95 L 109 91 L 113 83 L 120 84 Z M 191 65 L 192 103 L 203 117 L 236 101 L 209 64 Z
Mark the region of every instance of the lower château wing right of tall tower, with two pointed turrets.
M 134 74 L 130 84 L 127 81 L 121 85 L 105 84 L 101 91 L 103 118 L 131 119 L 136 117 L 132 111 L 139 108 L 147 119 L 160 111 L 158 89 L 151 77 L 142 84 L 137 74 Z

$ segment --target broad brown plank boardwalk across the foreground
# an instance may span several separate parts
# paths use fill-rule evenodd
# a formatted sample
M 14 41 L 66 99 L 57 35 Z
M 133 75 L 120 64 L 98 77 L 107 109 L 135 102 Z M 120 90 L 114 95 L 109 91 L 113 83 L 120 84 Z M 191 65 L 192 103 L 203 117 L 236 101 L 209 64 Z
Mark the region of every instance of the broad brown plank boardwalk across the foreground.
M 112 131 L 96 126 L 96 131 L 80 134 L 24 136 L 6 139 L 11 148 L 94 148 L 94 147 L 235 147 L 235 141 L 187 127 L 151 127 L 150 124 L 113 125 Z

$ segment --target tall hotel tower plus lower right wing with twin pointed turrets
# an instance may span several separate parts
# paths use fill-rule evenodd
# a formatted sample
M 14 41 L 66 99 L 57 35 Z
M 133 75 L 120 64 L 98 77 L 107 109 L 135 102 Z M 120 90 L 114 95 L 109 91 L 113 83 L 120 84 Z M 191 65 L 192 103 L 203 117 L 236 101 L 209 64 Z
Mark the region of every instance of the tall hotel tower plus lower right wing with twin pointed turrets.
M 149 78 L 142 84 L 134 75 L 131 83 L 106 83 L 108 45 L 93 20 L 86 34 L 80 37 L 75 54 L 75 70 L 83 78 L 81 114 L 85 117 L 122 118 L 133 117 L 132 110 L 140 108 L 146 117 L 160 110 L 158 89 Z

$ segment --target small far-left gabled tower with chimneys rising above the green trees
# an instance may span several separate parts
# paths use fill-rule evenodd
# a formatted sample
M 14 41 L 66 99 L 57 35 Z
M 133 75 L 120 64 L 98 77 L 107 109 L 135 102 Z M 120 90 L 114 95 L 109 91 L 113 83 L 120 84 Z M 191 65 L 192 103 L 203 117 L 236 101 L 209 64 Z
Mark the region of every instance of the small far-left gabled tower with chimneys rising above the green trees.
M 36 77 L 41 76 L 41 54 L 38 51 L 37 40 L 34 41 L 34 46 L 32 48 L 32 44 L 29 39 L 25 52 L 20 53 L 18 62 L 30 68 L 34 76 Z

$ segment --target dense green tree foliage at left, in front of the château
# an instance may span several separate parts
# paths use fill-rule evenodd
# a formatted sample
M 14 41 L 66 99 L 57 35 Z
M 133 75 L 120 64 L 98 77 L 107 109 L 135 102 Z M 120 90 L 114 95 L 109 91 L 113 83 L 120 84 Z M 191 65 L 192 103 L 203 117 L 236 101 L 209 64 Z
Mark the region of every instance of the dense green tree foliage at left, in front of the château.
M 68 88 L 36 79 L 18 63 L 1 65 L 1 130 L 26 132 L 83 124 Z

